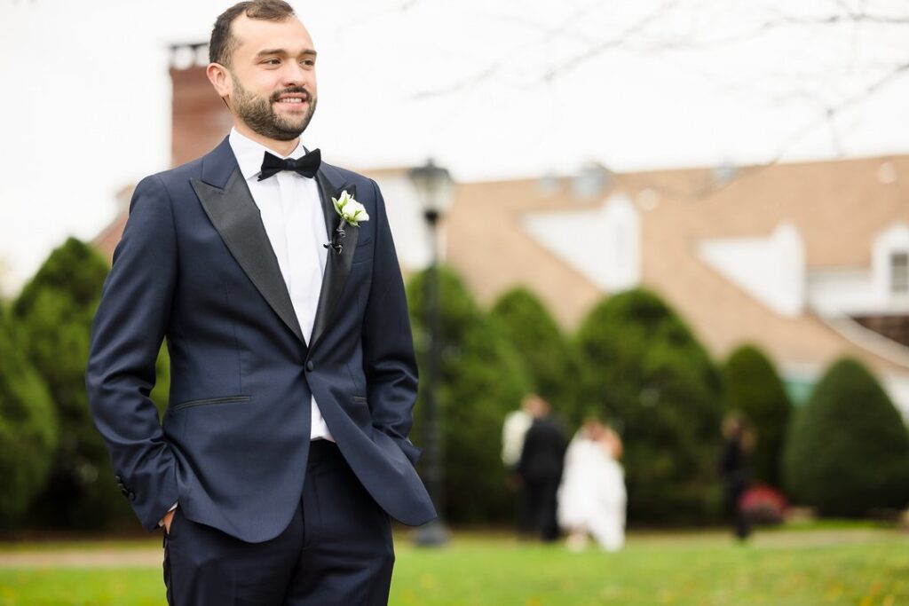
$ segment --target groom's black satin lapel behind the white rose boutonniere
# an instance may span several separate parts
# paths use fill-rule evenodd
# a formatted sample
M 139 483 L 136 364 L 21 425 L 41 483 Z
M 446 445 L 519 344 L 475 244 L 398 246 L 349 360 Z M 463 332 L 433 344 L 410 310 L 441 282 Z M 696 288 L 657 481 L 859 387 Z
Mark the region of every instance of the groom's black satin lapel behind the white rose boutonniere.
M 341 187 L 333 186 L 322 170 L 315 174 L 315 180 L 319 185 L 319 197 L 322 199 L 322 210 L 325 214 L 326 242 L 330 243 L 335 236 L 335 229 L 337 229 L 341 221 L 341 216 L 335 211 L 335 204 L 332 202 L 332 198 L 340 198 L 341 193 L 345 190 L 351 197 L 355 197 L 356 188 L 353 184 L 345 184 Z M 309 340 L 310 351 L 318 343 L 319 337 L 325 333 L 328 323 L 331 322 L 338 299 L 341 297 L 341 293 L 344 292 L 347 276 L 350 275 L 350 265 L 354 260 L 356 240 L 360 233 L 360 228 L 354 225 L 345 225 L 345 233 L 345 238 L 341 240 L 344 243 L 341 253 L 335 253 L 331 248 L 328 249 L 325 276 L 322 278 L 322 290 L 319 292 L 319 304 L 315 308 L 313 334 Z

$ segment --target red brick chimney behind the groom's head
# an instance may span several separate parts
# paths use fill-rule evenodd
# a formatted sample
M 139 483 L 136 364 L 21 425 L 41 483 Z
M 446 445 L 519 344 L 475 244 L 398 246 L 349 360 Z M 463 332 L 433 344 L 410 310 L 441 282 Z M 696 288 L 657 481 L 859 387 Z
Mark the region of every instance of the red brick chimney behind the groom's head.
M 224 102 L 205 77 L 208 45 L 173 45 L 170 51 L 174 86 L 171 164 L 176 166 L 212 151 L 233 123 Z

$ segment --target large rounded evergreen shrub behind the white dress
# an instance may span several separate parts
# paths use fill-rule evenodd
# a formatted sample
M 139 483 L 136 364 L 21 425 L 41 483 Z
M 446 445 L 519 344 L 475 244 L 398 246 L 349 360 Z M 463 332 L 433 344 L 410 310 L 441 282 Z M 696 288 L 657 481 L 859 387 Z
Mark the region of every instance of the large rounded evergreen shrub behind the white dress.
M 655 293 L 604 300 L 581 324 L 584 395 L 624 441 L 628 517 L 701 522 L 720 510 L 720 373 Z

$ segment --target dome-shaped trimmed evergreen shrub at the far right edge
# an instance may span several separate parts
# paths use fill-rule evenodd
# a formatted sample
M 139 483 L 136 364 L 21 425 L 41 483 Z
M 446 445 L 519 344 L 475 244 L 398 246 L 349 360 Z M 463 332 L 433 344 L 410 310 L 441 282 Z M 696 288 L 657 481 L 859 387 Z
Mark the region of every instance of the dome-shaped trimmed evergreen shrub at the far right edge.
M 834 363 L 796 413 L 784 451 L 795 502 L 826 516 L 863 516 L 909 503 L 909 432 L 862 363 Z

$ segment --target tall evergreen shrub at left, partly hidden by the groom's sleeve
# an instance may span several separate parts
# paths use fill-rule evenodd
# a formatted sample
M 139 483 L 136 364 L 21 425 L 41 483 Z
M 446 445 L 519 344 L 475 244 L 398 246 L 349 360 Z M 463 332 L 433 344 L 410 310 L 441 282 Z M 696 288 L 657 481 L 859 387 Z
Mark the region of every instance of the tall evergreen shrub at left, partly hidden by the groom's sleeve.
M 103 527 L 132 522 L 128 502 L 114 480 L 105 443 L 95 430 L 85 392 L 85 365 L 92 318 L 109 267 L 92 247 L 75 238 L 50 254 L 15 301 L 25 352 L 50 389 L 60 440 L 33 522 L 41 526 Z M 166 402 L 164 381 L 155 396 Z

